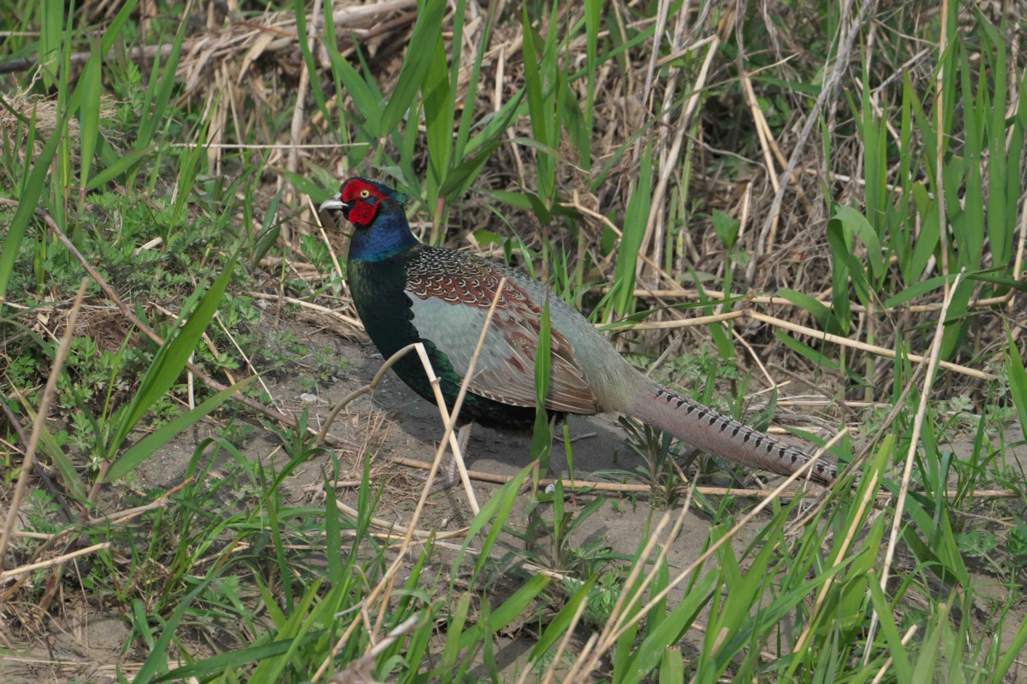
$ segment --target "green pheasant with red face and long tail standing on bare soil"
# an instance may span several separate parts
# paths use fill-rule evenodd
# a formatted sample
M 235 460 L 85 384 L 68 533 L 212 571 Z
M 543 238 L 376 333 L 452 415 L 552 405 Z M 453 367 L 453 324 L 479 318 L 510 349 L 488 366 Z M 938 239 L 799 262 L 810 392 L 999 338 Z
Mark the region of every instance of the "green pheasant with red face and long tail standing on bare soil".
M 421 341 L 450 410 L 502 278 L 506 283 L 458 416 L 459 441 L 480 423 L 527 429 L 535 418 L 535 349 L 548 290 L 500 264 L 417 240 L 404 211 L 406 196 L 353 177 L 321 204 L 353 225 L 347 261 L 356 311 L 388 358 Z M 551 295 L 551 371 L 545 408 L 551 413 L 624 413 L 717 456 L 790 475 L 808 460 L 802 451 L 662 387 L 629 364 L 581 314 Z M 434 402 L 420 361 L 392 366 L 414 392 Z M 830 484 L 834 467 L 817 461 L 810 478 Z

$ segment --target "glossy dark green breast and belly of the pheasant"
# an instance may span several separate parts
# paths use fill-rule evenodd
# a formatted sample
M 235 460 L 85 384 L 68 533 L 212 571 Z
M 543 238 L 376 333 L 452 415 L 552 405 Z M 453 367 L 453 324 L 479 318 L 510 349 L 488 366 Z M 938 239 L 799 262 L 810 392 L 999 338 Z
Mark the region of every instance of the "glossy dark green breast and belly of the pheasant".
M 452 411 L 463 377 L 453 369 L 445 350 L 439 349 L 433 340 L 421 337 L 413 303 L 406 292 L 408 263 L 417 259 L 424 249 L 423 245 L 418 245 L 390 258 L 374 261 L 350 258 L 347 264 L 349 289 L 360 321 L 383 357 L 388 359 L 413 343 L 424 344 L 431 367 L 439 376 L 446 406 Z M 467 340 L 467 344 L 477 341 Z M 408 353 L 392 366 L 392 370 L 414 392 L 435 403 L 431 384 L 416 353 Z M 467 392 L 459 419 L 461 423 L 473 420 L 495 428 L 522 430 L 534 424 L 535 409 L 502 404 Z

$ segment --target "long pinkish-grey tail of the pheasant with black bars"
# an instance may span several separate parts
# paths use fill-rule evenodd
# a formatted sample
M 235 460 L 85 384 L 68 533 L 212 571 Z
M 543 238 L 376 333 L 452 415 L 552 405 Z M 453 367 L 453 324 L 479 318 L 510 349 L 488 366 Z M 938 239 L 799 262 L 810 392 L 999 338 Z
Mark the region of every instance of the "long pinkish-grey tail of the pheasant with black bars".
M 802 451 L 656 383 L 636 393 L 627 412 L 692 446 L 771 473 L 791 475 L 809 460 Z M 817 460 L 809 477 L 830 485 L 837 475 L 834 466 Z

